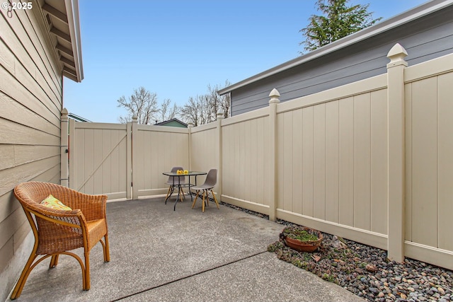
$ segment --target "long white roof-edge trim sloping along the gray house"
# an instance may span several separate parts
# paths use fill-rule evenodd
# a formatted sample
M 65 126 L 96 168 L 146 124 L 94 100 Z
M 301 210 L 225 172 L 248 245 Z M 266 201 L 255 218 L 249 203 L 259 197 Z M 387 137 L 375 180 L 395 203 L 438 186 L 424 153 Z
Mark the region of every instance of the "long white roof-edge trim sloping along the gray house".
M 263 71 L 260 74 L 256 74 L 255 76 L 251 76 L 248 79 L 245 79 L 238 83 L 234 83 L 231 86 L 219 90 L 218 93 L 219 95 L 224 95 L 226 93 L 236 90 L 237 88 L 241 88 L 256 81 L 260 81 L 261 79 L 268 78 L 269 76 L 272 76 L 274 74 L 278 74 L 287 69 L 291 69 L 294 66 L 310 62 L 311 60 L 322 57 L 331 52 L 335 52 L 336 50 L 340 50 L 343 49 L 344 47 L 348 47 L 349 45 L 355 44 L 362 40 L 366 40 L 369 37 L 374 37 L 375 35 L 384 33 L 386 30 L 390 30 L 405 23 L 414 21 L 415 19 L 426 16 L 434 11 L 438 11 L 447 6 L 451 6 L 452 4 L 453 0 L 432 0 L 425 4 L 421 4 L 420 6 L 416 6 L 415 8 L 412 8 L 409 11 L 400 13 L 397 16 L 386 19 L 385 21 L 370 26 L 369 28 L 365 28 L 363 30 L 358 31 L 357 33 L 353 33 L 352 35 L 343 37 L 340 40 L 331 42 L 330 44 L 320 47 L 317 50 L 309 52 L 308 54 L 304 54 L 301 57 L 289 60 L 288 62 L 285 62 L 271 69 Z

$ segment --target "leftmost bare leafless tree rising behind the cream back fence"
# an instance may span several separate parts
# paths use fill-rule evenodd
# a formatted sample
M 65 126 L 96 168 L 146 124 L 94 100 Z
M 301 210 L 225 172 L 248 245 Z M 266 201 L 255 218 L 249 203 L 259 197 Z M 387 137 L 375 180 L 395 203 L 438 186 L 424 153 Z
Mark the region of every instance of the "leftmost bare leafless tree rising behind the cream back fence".
M 157 109 L 157 94 L 150 93 L 144 87 L 134 89 L 134 93 L 126 100 L 123 95 L 117 100 L 118 107 L 126 108 L 128 116 L 118 117 L 121 123 L 130 122 L 132 115 L 137 115 L 139 124 L 151 124 L 155 120 Z

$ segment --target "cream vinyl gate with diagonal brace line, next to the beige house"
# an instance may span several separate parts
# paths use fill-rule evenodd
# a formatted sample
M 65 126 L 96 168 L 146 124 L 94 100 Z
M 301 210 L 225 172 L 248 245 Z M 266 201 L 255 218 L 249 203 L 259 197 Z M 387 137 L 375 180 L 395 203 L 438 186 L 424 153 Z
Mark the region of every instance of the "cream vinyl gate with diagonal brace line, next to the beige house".
M 69 119 L 71 189 L 86 194 L 107 194 L 109 199 L 131 197 L 131 126 Z M 65 137 L 62 134 L 62 139 Z M 67 173 L 62 165 L 62 171 Z M 65 178 L 67 174 L 62 175 Z

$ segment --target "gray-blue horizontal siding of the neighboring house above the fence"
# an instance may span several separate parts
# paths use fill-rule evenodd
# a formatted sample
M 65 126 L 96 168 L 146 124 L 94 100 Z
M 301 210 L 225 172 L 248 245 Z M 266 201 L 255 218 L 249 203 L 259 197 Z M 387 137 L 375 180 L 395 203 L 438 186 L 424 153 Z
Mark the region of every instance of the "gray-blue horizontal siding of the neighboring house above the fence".
M 231 115 L 239 115 L 267 106 L 273 88 L 277 88 L 284 102 L 384 74 L 389 62 L 386 55 L 396 43 L 407 50 L 409 65 L 441 57 L 453 52 L 452 16 L 453 5 L 449 5 L 263 79 L 236 88 L 235 84 L 220 93 L 231 93 Z

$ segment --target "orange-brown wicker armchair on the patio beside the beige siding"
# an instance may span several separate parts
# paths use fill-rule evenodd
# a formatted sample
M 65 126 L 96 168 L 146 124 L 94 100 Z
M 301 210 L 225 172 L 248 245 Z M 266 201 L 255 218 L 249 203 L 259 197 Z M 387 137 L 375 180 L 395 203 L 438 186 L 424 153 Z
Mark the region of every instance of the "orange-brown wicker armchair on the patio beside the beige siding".
M 49 194 L 71 207 L 72 210 L 51 209 L 40 204 Z M 14 195 L 21 202 L 23 211 L 25 211 L 35 236 L 35 245 L 13 294 L 11 294 L 11 300 L 21 296 L 28 275 L 38 263 L 51 257 L 49 268 L 55 267 L 59 255 L 70 255 L 79 261 L 82 269 L 83 289 L 86 291 L 90 289 L 89 254 L 91 248 L 101 242 L 104 261 L 110 261 L 105 217 L 107 196 L 83 194 L 47 182 L 23 182 L 14 188 Z M 102 240 L 103 237 L 105 242 Z M 85 264 L 74 252 L 69 252 L 76 248 L 84 248 Z M 43 257 L 37 260 L 40 255 Z

